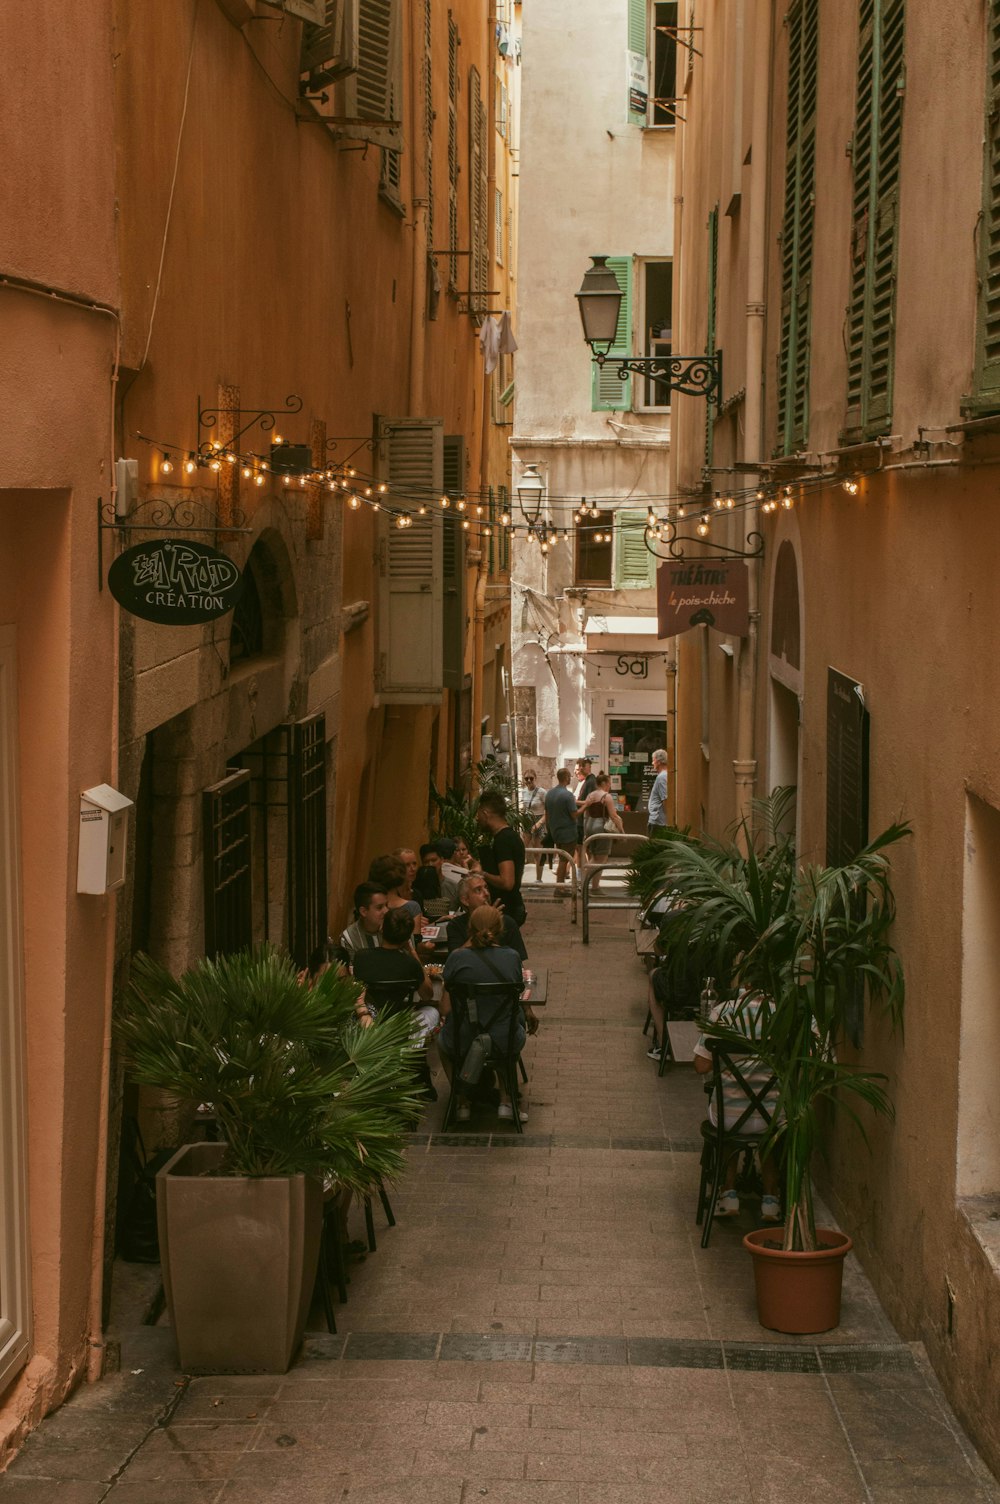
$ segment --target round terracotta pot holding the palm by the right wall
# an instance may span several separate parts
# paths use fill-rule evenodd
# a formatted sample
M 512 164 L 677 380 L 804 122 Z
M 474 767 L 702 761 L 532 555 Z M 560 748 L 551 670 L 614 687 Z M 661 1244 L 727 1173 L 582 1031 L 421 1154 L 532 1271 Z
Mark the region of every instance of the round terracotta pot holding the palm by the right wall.
M 776 1227 L 758 1227 L 743 1239 L 753 1256 L 761 1327 L 812 1333 L 830 1331 L 839 1324 L 844 1260 L 853 1242 L 845 1232 L 832 1227 L 817 1227 L 817 1242 L 815 1253 L 786 1253 Z

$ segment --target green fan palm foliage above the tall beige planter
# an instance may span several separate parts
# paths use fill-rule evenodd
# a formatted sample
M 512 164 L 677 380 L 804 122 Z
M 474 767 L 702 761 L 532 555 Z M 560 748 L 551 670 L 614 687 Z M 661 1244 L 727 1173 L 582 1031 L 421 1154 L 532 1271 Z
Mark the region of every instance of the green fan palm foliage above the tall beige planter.
M 138 955 L 116 1029 L 140 1084 L 212 1104 L 224 1173 L 334 1176 L 367 1191 L 402 1170 L 423 1096 L 411 1021 L 359 1027 L 358 993 L 332 969 L 299 982 L 274 946 L 202 960 L 176 979 Z

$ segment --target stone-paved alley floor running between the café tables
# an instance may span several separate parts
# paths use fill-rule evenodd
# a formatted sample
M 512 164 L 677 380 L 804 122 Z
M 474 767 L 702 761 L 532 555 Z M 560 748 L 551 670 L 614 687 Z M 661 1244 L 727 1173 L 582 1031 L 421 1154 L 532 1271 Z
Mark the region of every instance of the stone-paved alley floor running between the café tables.
M 45 1421 L 5 1504 L 988 1504 L 923 1352 L 856 1263 L 842 1325 L 755 1318 L 740 1227 L 695 1227 L 704 1096 L 657 1080 L 623 914 L 592 943 L 535 904 L 550 969 L 523 1140 L 493 1117 L 414 1136 L 398 1218 L 284 1378 L 197 1378 L 165 1327 Z M 441 1081 L 441 1077 L 439 1077 Z M 141 1372 L 134 1372 L 141 1370 Z

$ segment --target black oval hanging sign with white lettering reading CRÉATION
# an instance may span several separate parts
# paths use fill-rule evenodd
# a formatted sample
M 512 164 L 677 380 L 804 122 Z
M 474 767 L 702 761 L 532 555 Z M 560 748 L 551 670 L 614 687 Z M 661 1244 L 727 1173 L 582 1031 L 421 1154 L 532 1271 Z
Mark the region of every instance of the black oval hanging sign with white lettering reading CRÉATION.
M 152 538 L 114 559 L 108 588 L 134 617 L 192 627 L 232 611 L 244 576 L 230 558 L 205 543 Z

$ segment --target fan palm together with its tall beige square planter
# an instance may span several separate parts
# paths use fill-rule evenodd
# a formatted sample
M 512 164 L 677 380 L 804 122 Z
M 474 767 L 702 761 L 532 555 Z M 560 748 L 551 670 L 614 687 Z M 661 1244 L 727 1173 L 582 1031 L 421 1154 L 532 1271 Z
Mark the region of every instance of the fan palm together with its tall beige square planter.
M 420 1114 L 411 1023 L 359 1027 L 355 982 L 310 987 L 272 946 L 173 978 L 135 957 L 116 1029 L 132 1077 L 209 1102 L 220 1142 L 159 1172 L 164 1289 L 183 1369 L 284 1372 L 319 1259 L 323 1184 L 370 1191 Z

